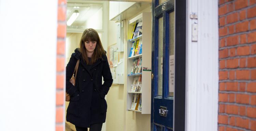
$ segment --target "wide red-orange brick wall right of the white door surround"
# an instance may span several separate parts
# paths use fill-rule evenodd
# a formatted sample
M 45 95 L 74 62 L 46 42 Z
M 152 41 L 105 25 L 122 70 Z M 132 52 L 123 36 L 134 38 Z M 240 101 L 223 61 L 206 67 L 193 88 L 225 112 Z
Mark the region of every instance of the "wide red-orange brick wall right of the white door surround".
M 256 131 L 256 0 L 219 0 L 219 131 Z

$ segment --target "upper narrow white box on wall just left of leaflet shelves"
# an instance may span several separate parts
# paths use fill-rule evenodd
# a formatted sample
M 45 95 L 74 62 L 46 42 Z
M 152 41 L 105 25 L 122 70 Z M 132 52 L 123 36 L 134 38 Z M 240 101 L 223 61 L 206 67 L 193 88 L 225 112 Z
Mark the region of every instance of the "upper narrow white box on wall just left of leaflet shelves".
M 117 52 L 124 52 L 124 21 L 117 24 Z

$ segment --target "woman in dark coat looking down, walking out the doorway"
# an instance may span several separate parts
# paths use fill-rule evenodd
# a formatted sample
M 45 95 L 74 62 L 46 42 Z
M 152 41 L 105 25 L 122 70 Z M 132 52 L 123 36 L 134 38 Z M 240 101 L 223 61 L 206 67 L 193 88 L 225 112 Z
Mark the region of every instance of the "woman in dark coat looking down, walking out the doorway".
M 77 60 L 80 59 L 75 86 L 69 81 Z M 104 83 L 102 85 L 102 76 Z M 107 104 L 104 99 L 113 82 L 106 53 L 98 33 L 86 29 L 66 67 L 66 92 L 70 95 L 67 121 L 76 131 L 101 131 L 106 120 Z

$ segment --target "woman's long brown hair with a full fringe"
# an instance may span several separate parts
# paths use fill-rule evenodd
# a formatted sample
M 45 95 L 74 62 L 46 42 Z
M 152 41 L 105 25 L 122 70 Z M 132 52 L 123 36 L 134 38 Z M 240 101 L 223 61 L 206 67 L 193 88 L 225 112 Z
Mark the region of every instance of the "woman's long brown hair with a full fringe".
M 86 48 L 84 45 L 85 41 L 97 41 L 96 48 L 93 52 L 93 55 L 91 56 L 91 61 L 89 61 L 87 57 Z M 99 58 L 103 59 L 102 55 L 105 55 L 105 51 L 103 49 L 102 43 L 100 41 L 100 37 L 96 30 L 90 28 L 84 31 L 80 40 L 80 50 L 81 50 L 83 59 L 87 64 L 94 64 Z

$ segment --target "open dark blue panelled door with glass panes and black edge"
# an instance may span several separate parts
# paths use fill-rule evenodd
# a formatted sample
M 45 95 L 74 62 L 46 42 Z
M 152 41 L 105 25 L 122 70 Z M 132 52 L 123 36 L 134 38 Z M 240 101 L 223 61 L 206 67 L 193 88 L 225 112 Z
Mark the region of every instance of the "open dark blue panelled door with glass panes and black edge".
M 152 15 L 151 131 L 184 131 L 186 0 L 153 0 Z

